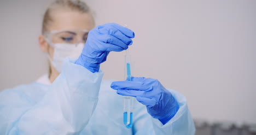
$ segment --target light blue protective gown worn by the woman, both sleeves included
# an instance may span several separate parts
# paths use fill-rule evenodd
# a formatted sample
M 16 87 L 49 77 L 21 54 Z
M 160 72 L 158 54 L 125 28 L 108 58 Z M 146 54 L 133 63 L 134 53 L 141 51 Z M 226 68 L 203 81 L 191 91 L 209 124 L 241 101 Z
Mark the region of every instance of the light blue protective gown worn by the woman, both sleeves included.
M 177 99 L 177 114 L 162 125 L 135 101 L 133 127 L 123 124 L 123 97 L 101 81 L 103 73 L 66 59 L 53 84 L 32 83 L 0 92 L 0 134 L 194 134 L 187 101 Z

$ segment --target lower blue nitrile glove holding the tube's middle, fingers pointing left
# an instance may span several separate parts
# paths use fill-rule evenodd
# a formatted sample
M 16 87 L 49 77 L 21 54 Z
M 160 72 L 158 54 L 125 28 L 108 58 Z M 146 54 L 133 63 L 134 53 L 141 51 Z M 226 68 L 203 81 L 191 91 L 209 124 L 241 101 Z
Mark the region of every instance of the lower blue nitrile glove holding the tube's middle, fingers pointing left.
M 166 124 L 177 113 L 179 105 L 171 92 L 152 78 L 135 78 L 131 81 L 114 81 L 112 89 L 119 95 L 136 97 L 137 101 L 146 105 L 148 113 L 162 124 Z

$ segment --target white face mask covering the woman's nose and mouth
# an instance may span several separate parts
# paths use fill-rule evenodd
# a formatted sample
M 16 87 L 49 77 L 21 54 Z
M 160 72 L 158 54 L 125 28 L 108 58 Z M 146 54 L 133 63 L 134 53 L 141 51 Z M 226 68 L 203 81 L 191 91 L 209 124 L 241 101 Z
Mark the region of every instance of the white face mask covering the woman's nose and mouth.
M 66 57 L 77 59 L 84 48 L 84 43 L 79 44 L 68 44 L 68 43 L 59 43 L 53 44 L 54 46 L 54 55 L 53 59 L 50 57 L 51 64 L 54 68 L 61 73 L 62 62 Z

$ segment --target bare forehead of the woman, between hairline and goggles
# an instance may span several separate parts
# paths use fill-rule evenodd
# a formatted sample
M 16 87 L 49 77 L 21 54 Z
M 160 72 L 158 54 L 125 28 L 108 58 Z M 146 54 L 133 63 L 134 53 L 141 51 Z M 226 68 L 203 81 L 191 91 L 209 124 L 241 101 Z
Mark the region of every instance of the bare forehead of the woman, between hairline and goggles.
M 49 24 L 49 31 L 91 30 L 94 28 L 94 21 L 89 13 L 62 9 L 53 11 L 51 16 L 53 22 Z

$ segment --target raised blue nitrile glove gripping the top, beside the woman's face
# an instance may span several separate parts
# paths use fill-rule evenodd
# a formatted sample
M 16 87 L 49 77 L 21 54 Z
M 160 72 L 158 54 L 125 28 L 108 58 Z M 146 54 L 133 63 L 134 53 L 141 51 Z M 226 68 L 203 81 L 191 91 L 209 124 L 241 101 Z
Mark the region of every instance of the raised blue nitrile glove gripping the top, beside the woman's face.
M 133 31 L 115 23 L 97 26 L 89 32 L 82 54 L 75 64 L 93 73 L 98 72 L 110 51 L 126 50 L 134 37 Z

